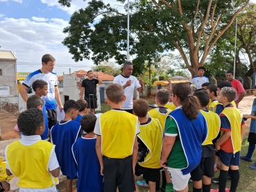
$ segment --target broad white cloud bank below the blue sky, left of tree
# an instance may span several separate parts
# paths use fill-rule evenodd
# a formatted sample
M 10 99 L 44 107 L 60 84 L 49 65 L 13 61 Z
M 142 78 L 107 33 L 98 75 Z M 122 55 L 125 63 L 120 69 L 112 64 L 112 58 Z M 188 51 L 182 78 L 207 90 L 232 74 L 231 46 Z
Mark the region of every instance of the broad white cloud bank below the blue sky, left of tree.
M 68 53 L 69 50 L 62 44 L 66 37 L 62 30 L 68 24 L 68 21 L 58 18 L 49 19 L 47 23 L 32 19 L 4 18 L 0 21 L 1 50 L 15 51 L 18 72 L 40 69 L 42 55 L 46 53 L 56 58 L 56 68 L 53 72 L 57 71 L 58 75 L 63 71 L 68 73 L 69 67 L 72 72 L 89 70 L 93 65 L 92 60 L 74 62 L 72 55 Z

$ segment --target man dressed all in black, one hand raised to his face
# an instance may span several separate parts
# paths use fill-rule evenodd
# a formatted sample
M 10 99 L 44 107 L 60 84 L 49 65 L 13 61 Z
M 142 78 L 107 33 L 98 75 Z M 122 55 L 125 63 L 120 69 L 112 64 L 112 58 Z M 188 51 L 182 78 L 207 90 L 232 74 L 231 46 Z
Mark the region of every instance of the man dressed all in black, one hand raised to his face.
M 96 85 L 103 84 L 103 81 L 99 79 L 99 76 L 94 78 L 92 71 L 87 71 L 87 79 L 82 82 L 80 90 L 80 98 L 83 98 L 83 93 L 85 93 L 85 101 L 87 101 L 87 108 L 91 109 L 91 113 L 94 114 L 94 110 L 97 107 L 97 97 L 96 97 Z M 91 96 L 90 96 L 91 95 Z M 93 95 L 93 96 L 92 96 Z

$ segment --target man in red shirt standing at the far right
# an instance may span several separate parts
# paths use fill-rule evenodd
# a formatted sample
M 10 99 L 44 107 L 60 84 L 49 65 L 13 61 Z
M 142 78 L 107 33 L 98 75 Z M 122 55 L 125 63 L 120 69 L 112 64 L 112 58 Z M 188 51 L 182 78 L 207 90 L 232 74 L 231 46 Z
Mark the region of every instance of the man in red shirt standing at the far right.
M 236 103 L 238 107 L 240 101 L 242 101 L 244 96 L 246 95 L 244 87 L 243 85 L 241 85 L 241 82 L 239 80 L 234 79 L 234 71 L 227 71 L 226 78 L 227 81 L 232 83 L 233 88 L 237 91 L 237 96 L 234 99 L 234 103 Z

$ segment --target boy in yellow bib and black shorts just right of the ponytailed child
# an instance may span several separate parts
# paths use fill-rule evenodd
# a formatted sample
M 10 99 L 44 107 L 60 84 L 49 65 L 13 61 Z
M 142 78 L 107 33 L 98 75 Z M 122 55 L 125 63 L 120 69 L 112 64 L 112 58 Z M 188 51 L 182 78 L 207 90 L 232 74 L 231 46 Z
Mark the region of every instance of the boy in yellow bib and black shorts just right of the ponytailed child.
M 216 113 L 205 110 L 205 106 L 210 100 L 210 96 L 205 89 L 196 91 L 194 96 L 198 98 L 200 112 L 206 119 L 207 138 L 202 144 L 203 152 L 200 164 L 190 174 L 191 180 L 193 180 L 193 192 L 200 192 L 202 187 L 203 192 L 210 192 L 211 178 L 214 177 L 214 146 L 212 140 L 219 134 L 221 121 Z

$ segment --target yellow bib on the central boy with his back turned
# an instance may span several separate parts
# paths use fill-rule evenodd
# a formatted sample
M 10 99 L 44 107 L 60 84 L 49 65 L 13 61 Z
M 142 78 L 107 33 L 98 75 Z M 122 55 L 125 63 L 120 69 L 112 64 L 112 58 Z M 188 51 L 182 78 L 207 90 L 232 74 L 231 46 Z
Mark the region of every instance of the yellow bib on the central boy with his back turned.
M 133 154 L 137 116 L 110 110 L 101 114 L 101 152 L 106 157 L 123 159 Z

